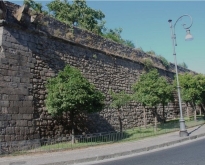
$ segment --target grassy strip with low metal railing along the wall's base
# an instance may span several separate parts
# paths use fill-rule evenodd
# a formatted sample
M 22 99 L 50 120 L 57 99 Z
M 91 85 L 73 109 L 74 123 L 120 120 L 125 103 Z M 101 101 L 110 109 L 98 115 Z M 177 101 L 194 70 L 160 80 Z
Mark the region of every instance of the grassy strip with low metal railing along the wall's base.
M 194 127 L 205 124 L 201 117 L 197 121 L 189 119 L 186 121 L 186 127 Z M 71 137 L 59 137 L 58 139 L 35 139 L 21 142 L 1 142 L 1 155 L 22 154 L 33 152 L 52 152 L 58 150 L 67 150 L 83 148 L 89 146 L 103 145 L 108 143 L 126 142 L 139 140 L 146 137 L 157 136 L 179 130 L 179 121 L 169 121 L 164 124 L 148 125 L 146 127 L 136 127 L 122 132 L 102 132 L 94 134 L 76 135 L 74 143 Z

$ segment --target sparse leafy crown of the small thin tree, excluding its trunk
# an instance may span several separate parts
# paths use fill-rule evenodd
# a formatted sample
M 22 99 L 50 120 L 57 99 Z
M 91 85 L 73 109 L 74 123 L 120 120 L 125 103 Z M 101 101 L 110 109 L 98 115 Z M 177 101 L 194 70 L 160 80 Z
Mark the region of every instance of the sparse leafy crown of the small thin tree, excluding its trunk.
M 125 93 L 125 91 L 121 91 L 119 93 L 114 93 L 113 91 L 111 91 L 110 94 L 112 98 L 112 103 L 110 104 L 110 106 L 118 110 L 122 106 L 126 105 L 127 102 L 129 102 L 131 99 L 131 96 Z

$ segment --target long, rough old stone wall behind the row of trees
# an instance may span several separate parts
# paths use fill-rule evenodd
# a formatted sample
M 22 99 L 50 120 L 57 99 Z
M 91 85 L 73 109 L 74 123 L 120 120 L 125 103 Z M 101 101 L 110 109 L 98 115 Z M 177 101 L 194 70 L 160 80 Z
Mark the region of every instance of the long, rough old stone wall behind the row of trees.
M 144 71 L 143 58 L 152 58 L 159 73 L 169 81 L 174 65 L 166 70 L 160 60 L 138 50 L 122 46 L 90 32 L 71 29 L 52 18 L 39 16 L 25 28 L 12 13 L 19 6 L 6 2 L 7 23 L 0 27 L 0 136 L 2 148 L 11 151 L 14 144 L 31 146 L 35 139 L 65 139 L 70 135 L 66 114 L 52 118 L 45 107 L 45 83 L 66 64 L 77 67 L 106 95 L 106 107 L 100 113 L 78 116 L 79 132 L 105 132 L 119 129 L 115 109 L 109 108 L 109 90 L 131 93 L 131 85 Z M 72 32 L 73 31 L 73 32 Z M 180 72 L 184 70 L 179 67 Z M 190 71 L 191 72 L 191 71 Z M 183 110 L 185 106 L 183 105 Z M 159 115 L 162 109 L 159 107 Z M 166 107 L 168 119 L 178 116 L 177 101 Z M 191 114 L 191 112 L 190 112 Z M 123 129 L 144 125 L 143 108 L 131 103 L 121 114 Z M 146 109 L 147 124 L 153 123 Z

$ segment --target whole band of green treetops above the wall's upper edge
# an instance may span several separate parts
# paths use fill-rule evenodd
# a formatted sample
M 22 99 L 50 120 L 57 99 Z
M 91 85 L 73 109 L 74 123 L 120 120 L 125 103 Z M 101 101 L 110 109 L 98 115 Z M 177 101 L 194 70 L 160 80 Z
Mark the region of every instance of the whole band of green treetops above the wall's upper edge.
M 87 6 L 86 0 L 73 0 L 69 3 L 67 0 L 53 0 L 47 4 L 48 11 L 43 10 L 41 3 L 34 0 L 24 0 L 24 3 L 30 4 L 30 7 L 36 13 L 51 14 L 57 20 L 70 26 L 89 30 L 93 33 L 111 39 L 117 43 L 134 48 L 134 43 L 121 37 L 122 28 L 105 28 L 105 15 L 100 10 L 95 10 Z

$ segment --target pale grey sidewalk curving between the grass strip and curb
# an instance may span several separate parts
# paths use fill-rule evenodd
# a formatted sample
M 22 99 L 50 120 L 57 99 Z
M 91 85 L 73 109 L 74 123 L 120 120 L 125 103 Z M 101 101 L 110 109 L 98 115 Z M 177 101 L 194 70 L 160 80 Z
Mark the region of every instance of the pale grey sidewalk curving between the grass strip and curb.
M 179 137 L 179 132 L 174 132 L 133 142 L 114 143 L 68 151 L 2 157 L 0 158 L 0 165 L 72 165 L 131 155 L 205 137 L 205 125 L 190 128 L 187 131 L 190 134 L 188 137 Z

